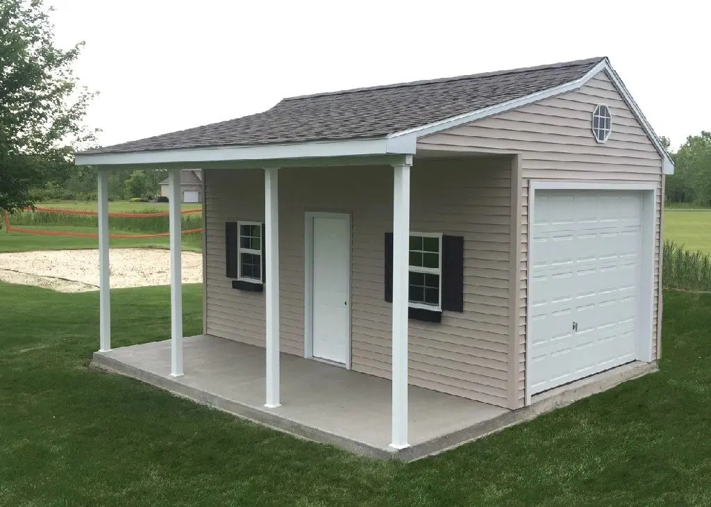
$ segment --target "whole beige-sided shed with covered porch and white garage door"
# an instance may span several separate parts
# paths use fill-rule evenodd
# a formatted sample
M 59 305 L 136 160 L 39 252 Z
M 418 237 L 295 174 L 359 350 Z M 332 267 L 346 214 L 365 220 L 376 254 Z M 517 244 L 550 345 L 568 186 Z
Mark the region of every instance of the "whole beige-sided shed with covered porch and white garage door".
M 102 220 L 111 169 L 203 169 L 201 336 L 176 200 L 170 341 L 111 349 L 102 261 L 95 363 L 176 393 L 411 459 L 656 368 L 673 161 L 607 58 L 292 97 L 76 162 Z

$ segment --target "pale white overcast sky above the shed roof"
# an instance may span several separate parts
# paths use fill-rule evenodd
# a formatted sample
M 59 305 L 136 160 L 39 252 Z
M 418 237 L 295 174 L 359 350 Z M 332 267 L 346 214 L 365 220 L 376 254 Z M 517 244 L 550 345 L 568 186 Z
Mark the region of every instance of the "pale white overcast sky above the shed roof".
M 609 56 L 674 148 L 711 129 L 707 1 L 47 0 L 107 146 L 282 97 Z

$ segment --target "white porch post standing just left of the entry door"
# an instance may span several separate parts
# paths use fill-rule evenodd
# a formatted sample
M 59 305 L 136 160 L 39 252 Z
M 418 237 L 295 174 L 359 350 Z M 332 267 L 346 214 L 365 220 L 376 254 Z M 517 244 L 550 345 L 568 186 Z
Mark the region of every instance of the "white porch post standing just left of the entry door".
M 279 169 L 264 169 L 264 295 L 267 306 L 267 402 L 279 401 Z

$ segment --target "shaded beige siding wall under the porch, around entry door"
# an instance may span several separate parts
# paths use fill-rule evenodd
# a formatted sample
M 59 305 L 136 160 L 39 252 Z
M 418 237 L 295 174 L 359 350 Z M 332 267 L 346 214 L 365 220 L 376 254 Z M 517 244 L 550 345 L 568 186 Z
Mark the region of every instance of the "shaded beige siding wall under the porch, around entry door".
M 464 236 L 464 313 L 410 321 L 410 383 L 508 405 L 510 159 L 416 161 L 411 230 Z M 262 171 L 205 171 L 207 298 L 215 336 L 264 345 L 264 297 L 225 277 L 225 222 L 262 221 Z M 390 378 L 392 306 L 384 301 L 392 168 L 283 169 L 279 174 L 282 351 L 304 353 L 304 213 L 351 213 L 351 367 Z

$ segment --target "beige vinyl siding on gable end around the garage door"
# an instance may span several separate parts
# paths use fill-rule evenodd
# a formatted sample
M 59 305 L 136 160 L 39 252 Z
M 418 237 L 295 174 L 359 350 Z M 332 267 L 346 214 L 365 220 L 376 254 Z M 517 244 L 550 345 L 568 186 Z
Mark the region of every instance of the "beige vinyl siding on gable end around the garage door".
M 592 111 L 606 104 L 612 134 L 604 144 L 591 132 Z M 525 306 L 528 256 L 528 185 L 531 180 L 653 182 L 658 188 L 656 262 L 660 252 L 662 159 L 623 98 L 601 72 L 584 87 L 494 117 L 419 139 L 418 153 L 520 154 L 524 228 L 521 235 L 519 319 L 519 406 L 524 403 Z M 653 330 L 658 336 L 659 268 L 655 269 Z M 653 358 L 657 357 L 653 340 Z

